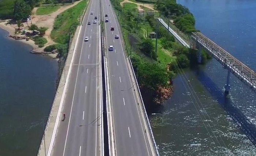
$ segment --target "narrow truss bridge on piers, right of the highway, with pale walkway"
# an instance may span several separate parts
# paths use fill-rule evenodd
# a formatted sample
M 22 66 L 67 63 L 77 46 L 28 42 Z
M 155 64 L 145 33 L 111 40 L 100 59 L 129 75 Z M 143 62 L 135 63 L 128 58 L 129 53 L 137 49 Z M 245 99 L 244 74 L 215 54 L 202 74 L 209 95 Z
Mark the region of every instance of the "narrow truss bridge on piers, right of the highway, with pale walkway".
M 158 18 L 158 21 L 163 25 L 163 27 L 169 30 L 169 32 L 172 33 L 176 40 L 182 45 L 188 48 L 198 49 L 199 53 L 197 59 L 199 63 L 201 62 L 201 49 L 203 48 L 210 53 L 215 60 L 221 63 L 225 69 L 227 69 L 225 95 L 229 94 L 230 73 L 233 73 L 233 75 L 238 77 L 238 79 L 248 85 L 253 91 L 256 91 L 256 73 L 241 61 L 236 59 L 236 57 L 232 56 L 219 45 L 208 39 L 208 37 L 204 36 L 201 32 L 192 32 L 191 41 L 187 43 L 184 39 L 182 39 L 182 37 L 180 37 L 180 35 L 178 35 L 177 32 L 170 28 L 163 19 Z

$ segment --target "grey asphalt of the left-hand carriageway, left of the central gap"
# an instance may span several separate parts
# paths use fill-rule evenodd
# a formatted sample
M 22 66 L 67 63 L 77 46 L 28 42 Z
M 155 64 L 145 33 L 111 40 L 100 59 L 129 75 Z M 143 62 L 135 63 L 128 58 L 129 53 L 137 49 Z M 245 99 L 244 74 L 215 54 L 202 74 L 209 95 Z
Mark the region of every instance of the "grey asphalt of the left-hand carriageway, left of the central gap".
M 91 0 L 82 29 L 64 99 L 65 120 L 57 129 L 53 156 L 101 155 L 101 56 L 99 0 Z M 93 15 L 90 12 L 93 11 Z M 94 24 L 93 21 L 97 23 Z M 87 25 L 90 22 L 91 25 Z M 88 37 L 89 41 L 84 41 Z

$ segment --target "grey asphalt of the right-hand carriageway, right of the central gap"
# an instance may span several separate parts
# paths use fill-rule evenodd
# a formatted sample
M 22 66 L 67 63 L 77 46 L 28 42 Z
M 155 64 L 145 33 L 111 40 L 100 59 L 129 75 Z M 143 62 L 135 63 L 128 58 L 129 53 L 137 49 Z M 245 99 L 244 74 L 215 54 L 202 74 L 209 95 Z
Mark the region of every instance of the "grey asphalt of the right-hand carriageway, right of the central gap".
M 110 112 L 115 140 L 113 145 L 110 145 L 110 151 L 114 152 L 110 153 L 116 156 L 154 156 L 153 143 L 150 135 L 146 133 L 145 119 L 135 96 L 136 84 L 132 83 L 129 76 L 124 47 L 120 38 L 115 39 L 115 35 L 121 36 L 121 31 L 118 30 L 118 21 L 109 4 L 109 0 L 102 0 L 102 14 L 109 20 L 105 22 L 106 45 L 107 48 L 109 45 L 114 47 L 113 51 L 107 49 L 111 90 Z M 114 31 L 110 31 L 111 27 L 114 27 Z

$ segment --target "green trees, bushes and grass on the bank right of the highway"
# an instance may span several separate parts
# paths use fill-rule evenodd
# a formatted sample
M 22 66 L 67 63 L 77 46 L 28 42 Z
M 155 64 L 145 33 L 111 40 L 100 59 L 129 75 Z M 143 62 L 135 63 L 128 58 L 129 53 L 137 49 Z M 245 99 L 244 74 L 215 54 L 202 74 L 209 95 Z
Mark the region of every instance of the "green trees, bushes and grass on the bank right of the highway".
M 166 28 L 157 23 L 156 13 L 138 12 L 137 6 L 125 3 L 123 7 L 119 0 L 111 0 L 111 2 L 123 29 L 127 44 L 126 51 L 131 53 L 130 58 L 138 77 L 143 99 L 156 104 L 165 102 L 172 93 L 172 79 L 178 69 L 197 64 L 197 51 L 176 43 Z M 162 6 L 169 7 L 169 1 L 164 1 Z M 175 2 L 175 6 L 180 5 Z M 191 32 L 191 28 L 180 21 L 188 20 L 194 28 L 195 21 L 192 14 L 183 6 L 172 9 L 178 9 L 177 12 L 181 12 L 179 15 L 174 13 L 177 24 L 184 27 L 184 31 Z M 157 38 L 157 44 L 155 38 Z M 202 63 L 205 63 L 207 58 L 210 57 L 202 52 Z

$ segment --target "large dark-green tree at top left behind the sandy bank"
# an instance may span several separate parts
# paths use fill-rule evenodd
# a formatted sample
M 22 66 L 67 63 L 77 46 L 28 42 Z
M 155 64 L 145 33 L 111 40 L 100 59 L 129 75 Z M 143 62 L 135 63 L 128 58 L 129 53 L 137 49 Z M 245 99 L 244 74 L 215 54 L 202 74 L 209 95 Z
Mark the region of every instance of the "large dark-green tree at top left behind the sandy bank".
M 31 14 L 31 7 L 23 0 L 16 0 L 14 2 L 14 19 L 23 20 Z

